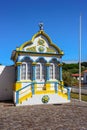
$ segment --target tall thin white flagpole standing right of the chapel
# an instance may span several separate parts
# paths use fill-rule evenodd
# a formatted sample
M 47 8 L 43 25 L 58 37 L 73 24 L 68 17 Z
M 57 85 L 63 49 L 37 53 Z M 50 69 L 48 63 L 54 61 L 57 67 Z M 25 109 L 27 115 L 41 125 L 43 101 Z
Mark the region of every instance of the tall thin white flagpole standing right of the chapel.
M 79 101 L 81 101 L 81 15 L 80 15 L 80 33 L 79 33 Z

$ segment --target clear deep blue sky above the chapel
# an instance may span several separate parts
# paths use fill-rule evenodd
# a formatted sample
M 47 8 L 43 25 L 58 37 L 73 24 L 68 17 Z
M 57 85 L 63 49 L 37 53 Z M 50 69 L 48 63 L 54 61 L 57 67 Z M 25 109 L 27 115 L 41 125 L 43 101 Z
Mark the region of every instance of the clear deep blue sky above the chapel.
M 31 40 L 38 23 L 64 51 L 63 61 L 79 59 L 82 15 L 82 61 L 87 61 L 87 0 L 0 0 L 0 63 L 12 65 L 12 50 Z

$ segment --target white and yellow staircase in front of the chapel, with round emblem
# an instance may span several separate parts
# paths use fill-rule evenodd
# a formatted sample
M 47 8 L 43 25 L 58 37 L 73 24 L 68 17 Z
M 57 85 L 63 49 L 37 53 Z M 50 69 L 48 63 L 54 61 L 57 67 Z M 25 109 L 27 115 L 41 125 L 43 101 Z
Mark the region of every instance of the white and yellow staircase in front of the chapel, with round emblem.
M 36 105 L 36 104 L 62 104 L 70 102 L 67 93 L 64 93 L 63 89 L 58 89 L 58 92 L 51 93 L 51 91 L 43 90 L 40 94 L 34 93 L 34 84 L 29 84 L 16 92 L 16 106 L 21 105 Z M 44 97 L 48 97 L 49 101 L 44 103 L 42 100 Z

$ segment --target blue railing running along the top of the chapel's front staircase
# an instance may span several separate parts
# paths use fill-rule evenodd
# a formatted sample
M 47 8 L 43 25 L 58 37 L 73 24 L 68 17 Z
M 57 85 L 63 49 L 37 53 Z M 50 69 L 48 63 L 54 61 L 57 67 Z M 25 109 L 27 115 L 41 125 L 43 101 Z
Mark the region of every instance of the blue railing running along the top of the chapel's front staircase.
M 68 100 L 70 100 L 70 89 L 68 87 L 65 87 L 64 85 L 62 85 L 59 82 L 53 82 L 53 81 L 49 81 L 49 82 L 31 82 L 28 85 L 26 85 L 25 87 L 23 87 L 23 88 L 19 89 L 18 91 L 16 91 L 16 104 L 19 103 L 19 98 L 20 98 L 19 95 L 21 95 L 19 93 L 22 90 L 24 90 L 24 89 L 26 89 L 26 88 L 28 88 L 30 86 L 31 87 L 31 92 L 32 92 L 32 94 L 34 94 L 35 93 L 35 87 L 34 87 L 35 84 L 44 84 L 44 85 L 46 85 L 46 84 L 49 84 L 49 83 L 54 84 L 55 93 L 58 92 L 58 85 L 60 85 L 61 91 L 62 91 L 62 87 L 66 88 L 67 89 L 67 93 L 68 93 Z M 39 87 L 37 87 L 37 88 L 39 88 Z M 26 93 L 26 91 L 27 90 L 25 90 L 23 93 Z

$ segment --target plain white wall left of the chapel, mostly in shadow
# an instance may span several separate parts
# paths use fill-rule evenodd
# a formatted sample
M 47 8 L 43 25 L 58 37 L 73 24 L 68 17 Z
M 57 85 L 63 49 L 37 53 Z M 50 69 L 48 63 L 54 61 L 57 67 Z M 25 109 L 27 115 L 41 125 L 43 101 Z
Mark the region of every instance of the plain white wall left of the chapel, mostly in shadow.
M 15 67 L 0 66 L 0 101 L 13 100 Z

